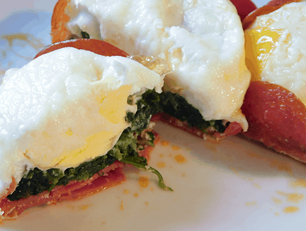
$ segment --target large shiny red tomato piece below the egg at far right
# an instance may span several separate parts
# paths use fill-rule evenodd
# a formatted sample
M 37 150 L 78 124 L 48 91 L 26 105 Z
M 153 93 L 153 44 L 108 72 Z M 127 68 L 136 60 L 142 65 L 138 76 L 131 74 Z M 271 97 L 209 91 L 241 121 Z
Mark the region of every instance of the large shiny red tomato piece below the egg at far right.
M 306 162 L 306 107 L 292 92 L 254 81 L 241 109 L 249 124 L 246 136 Z

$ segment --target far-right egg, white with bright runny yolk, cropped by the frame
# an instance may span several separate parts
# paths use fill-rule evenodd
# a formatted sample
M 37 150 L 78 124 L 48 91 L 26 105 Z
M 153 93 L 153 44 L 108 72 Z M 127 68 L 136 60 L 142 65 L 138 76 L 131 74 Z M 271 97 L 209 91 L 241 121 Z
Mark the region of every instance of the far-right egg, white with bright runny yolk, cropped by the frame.
M 281 85 L 306 105 L 305 15 L 305 2 L 290 3 L 258 16 L 245 35 L 252 78 Z

